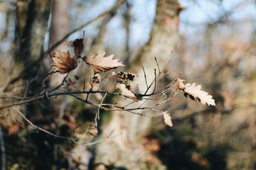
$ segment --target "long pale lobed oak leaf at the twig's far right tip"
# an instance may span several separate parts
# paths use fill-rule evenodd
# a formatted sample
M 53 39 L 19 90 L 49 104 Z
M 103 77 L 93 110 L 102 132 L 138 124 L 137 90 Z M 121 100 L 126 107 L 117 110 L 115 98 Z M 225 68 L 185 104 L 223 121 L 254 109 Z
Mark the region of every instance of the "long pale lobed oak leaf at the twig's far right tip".
M 205 92 L 205 91 L 200 91 L 201 89 L 201 85 L 195 86 L 195 83 L 193 84 L 183 84 L 182 79 L 177 79 L 176 81 L 176 86 L 184 92 L 184 95 L 187 97 L 187 95 L 189 95 L 189 97 L 192 100 L 198 100 L 199 102 L 201 102 L 202 104 L 208 104 L 209 106 L 216 106 L 215 104 L 215 100 L 212 99 L 211 95 L 208 95 L 209 93 Z

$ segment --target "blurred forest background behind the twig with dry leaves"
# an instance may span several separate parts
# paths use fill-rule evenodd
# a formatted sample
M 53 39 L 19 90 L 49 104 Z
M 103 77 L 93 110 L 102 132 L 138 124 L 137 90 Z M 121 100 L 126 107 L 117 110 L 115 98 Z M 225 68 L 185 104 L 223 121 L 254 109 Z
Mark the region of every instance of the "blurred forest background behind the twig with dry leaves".
M 97 108 L 70 96 L 16 106 L 37 126 L 80 137 L 81 143 L 123 132 L 91 146 L 35 132 L 13 108 L 2 108 L 2 170 L 256 169 L 255 0 L 0 0 L 0 105 L 16 101 L 4 96 L 42 91 L 52 64 L 45 50 L 67 51 L 64 41 L 56 46 L 63 37 L 84 37 L 88 55 L 115 54 L 126 71 L 139 76 L 136 83 L 144 81 L 141 66 L 153 79 L 154 57 L 163 66 L 173 51 L 166 66 L 170 73 L 161 81 L 182 72 L 185 83 L 201 84 L 216 107 L 178 94 L 163 106 L 173 127 L 162 117 L 102 110 L 99 134 L 91 137 Z M 89 82 L 92 74 L 82 64 L 70 81 L 74 75 Z M 52 75 L 48 86 L 64 76 Z M 81 87 L 83 80 L 68 88 Z M 90 97 L 100 103 L 103 96 Z

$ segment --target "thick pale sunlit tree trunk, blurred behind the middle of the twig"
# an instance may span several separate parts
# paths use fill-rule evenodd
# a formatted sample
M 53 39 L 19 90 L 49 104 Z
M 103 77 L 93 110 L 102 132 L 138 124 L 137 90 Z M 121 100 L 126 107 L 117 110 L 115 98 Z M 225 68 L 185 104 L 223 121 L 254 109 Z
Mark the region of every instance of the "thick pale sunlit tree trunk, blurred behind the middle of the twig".
M 155 23 L 150 33 L 150 40 L 139 51 L 128 68 L 130 72 L 137 71 L 137 75 L 141 76 L 133 82 L 134 84 L 145 84 L 144 78 L 142 78 L 144 73 L 141 66 L 144 66 L 148 82 L 151 83 L 155 77 L 154 68 L 157 68 L 154 57 L 157 57 L 161 67 L 171 54 L 178 40 L 180 9 L 177 0 L 157 1 Z M 145 87 L 140 87 L 140 91 L 145 92 Z M 140 104 L 138 102 L 138 106 Z M 146 167 L 143 167 L 145 163 L 152 164 L 152 160 L 147 159 L 149 152 L 140 144 L 141 138 L 149 128 L 150 120 L 148 117 L 130 113 L 113 113 L 112 120 L 103 127 L 103 136 L 109 135 L 112 130 L 115 134 L 119 132 L 122 132 L 122 134 L 111 139 L 108 143 L 102 142 L 99 144 L 95 156 L 96 163 L 124 167 L 129 170 L 145 169 Z M 158 168 L 160 167 L 162 167 L 161 164 Z

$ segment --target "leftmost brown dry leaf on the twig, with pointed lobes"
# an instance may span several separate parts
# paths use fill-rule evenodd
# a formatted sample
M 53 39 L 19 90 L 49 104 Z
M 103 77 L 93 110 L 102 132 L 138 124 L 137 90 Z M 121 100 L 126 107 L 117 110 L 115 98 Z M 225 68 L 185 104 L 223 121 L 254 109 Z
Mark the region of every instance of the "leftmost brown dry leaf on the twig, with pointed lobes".
M 52 55 L 52 53 L 50 53 L 49 50 L 46 50 L 46 52 L 51 57 L 51 59 L 54 60 L 54 62 L 56 62 L 56 65 L 52 65 L 52 67 L 55 68 L 61 74 L 68 73 L 77 67 L 76 57 L 71 58 L 70 53 L 68 51 L 67 53 L 65 53 L 56 50 L 54 55 Z

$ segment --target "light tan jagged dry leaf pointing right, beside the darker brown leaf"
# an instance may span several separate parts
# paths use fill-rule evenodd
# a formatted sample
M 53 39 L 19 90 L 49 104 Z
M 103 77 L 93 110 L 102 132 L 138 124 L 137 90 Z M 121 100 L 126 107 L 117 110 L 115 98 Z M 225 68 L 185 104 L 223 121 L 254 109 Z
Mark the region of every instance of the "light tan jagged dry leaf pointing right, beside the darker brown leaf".
M 83 60 L 86 62 L 86 64 L 89 64 L 92 67 L 94 73 L 101 73 L 113 68 L 125 66 L 122 62 L 119 62 L 119 59 L 112 60 L 114 55 L 103 57 L 104 55 L 105 51 L 89 57 L 84 56 Z

